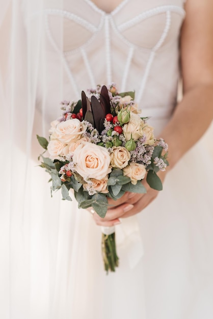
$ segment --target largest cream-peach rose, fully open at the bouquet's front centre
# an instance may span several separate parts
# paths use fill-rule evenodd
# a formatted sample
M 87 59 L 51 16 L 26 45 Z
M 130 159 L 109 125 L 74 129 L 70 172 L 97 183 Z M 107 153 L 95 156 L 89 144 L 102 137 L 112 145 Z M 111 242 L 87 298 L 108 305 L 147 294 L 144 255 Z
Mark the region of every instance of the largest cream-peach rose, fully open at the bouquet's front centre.
M 74 150 L 72 160 L 76 164 L 76 172 L 85 180 L 87 178 L 100 180 L 112 171 L 108 150 L 89 142 L 80 144 Z

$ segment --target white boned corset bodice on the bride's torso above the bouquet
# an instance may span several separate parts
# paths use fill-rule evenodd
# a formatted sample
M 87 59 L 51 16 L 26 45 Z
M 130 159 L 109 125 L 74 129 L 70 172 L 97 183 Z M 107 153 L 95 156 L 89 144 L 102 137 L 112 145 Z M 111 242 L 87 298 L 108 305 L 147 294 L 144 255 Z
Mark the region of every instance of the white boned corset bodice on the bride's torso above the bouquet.
M 35 45 L 43 13 L 38 105 L 45 90 L 54 119 L 60 99 L 77 100 L 82 90 L 115 82 L 119 91 L 136 91 L 144 116 L 168 118 L 176 102 L 184 0 L 123 0 L 100 9 L 101 3 L 46 0 L 25 10 Z

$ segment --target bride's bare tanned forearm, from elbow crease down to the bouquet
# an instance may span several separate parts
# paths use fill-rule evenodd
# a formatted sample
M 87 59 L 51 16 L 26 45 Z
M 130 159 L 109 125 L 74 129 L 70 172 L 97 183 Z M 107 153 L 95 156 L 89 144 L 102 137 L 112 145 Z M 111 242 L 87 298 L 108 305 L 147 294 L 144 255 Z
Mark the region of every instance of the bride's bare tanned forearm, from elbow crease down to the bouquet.
M 213 83 L 200 84 L 183 95 L 160 136 L 169 145 L 169 167 L 202 137 L 213 118 Z

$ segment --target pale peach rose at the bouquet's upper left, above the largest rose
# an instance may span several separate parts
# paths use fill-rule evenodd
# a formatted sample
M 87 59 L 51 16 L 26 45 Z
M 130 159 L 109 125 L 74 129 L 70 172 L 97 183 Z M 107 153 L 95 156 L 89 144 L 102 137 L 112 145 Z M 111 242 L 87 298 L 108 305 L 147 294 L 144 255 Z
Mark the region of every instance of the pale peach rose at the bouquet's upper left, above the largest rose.
M 64 122 L 60 122 L 54 132 L 52 133 L 50 139 L 58 139 L 64 144 L 69 144 L 76 142 L 81 139 L 82 134 L 85 132 L 86 127 L 84 127 L 78 119 L 70 119 Z

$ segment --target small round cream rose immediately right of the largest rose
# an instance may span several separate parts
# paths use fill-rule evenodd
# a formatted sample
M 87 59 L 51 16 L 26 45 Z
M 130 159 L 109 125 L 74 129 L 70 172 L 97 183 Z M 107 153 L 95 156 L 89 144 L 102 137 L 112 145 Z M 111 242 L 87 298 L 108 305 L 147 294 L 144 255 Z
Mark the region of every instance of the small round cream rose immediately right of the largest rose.
M 129 151 L 123 146 L 113 147 L 110 156 L 112 167 L 120 169 L 128 165 L 128 161 L 131 157 Z

